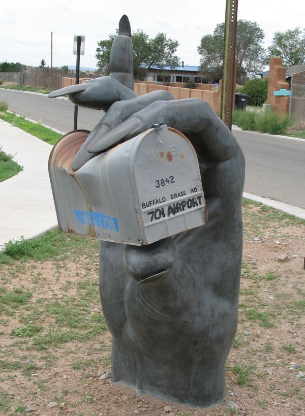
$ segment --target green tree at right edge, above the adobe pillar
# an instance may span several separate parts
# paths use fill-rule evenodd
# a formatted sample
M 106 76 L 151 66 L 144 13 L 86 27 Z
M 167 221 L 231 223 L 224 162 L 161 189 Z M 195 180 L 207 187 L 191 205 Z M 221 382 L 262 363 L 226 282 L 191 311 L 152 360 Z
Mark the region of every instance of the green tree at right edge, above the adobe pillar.
M 305 30 L 288 29 L 285 32 L 276 32 L 273 36 L 271 45 L 267 48 L 267 61 L 271 56 L 278 56 L 283 59 L 283 65 L 302 65 L 305 63 L 305 47 L 301 40 L 305 37 Z

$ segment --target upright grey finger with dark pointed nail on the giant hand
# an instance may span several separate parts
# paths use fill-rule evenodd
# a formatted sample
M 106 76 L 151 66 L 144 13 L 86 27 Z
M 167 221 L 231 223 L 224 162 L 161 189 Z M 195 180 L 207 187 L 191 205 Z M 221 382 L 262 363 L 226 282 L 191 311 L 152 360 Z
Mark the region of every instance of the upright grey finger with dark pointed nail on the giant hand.
M 132 91 L 133 86 L 133 48 L 130 22 L 126 15 L 120 18 L 118 35 L 114 38 L 110 53 L 110 77 Z

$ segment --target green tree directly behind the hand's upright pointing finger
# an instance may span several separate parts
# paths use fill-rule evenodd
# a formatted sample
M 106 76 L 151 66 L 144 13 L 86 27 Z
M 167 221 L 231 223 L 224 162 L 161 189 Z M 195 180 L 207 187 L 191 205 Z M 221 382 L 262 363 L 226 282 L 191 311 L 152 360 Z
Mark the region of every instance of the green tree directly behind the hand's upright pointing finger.
M 98 42 L 96 58 L 99 70 L 109 74 L 110 51 L 116 35 L 109 35 L 108 39 Z M 165 33 L 159 33 L 150 39 L 143 30 L 132 34 L 134 78 L 144 79 L 151 68 L 175 68 L 179 65 L 179 58 L 175 55 L 178 42 L 167 38 Z

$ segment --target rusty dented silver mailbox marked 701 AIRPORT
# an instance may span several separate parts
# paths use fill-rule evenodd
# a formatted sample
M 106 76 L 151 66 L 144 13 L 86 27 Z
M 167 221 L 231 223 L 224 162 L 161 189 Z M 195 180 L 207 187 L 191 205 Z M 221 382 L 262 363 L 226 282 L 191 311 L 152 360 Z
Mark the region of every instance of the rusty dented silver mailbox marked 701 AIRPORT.
M 147 245 L 207 222 L 197 155 L 180 132 L 153 127 L 73 171 L 73 158 L 87 134 L 64 136 L 50 154 L 51 186 L 64 232 Z

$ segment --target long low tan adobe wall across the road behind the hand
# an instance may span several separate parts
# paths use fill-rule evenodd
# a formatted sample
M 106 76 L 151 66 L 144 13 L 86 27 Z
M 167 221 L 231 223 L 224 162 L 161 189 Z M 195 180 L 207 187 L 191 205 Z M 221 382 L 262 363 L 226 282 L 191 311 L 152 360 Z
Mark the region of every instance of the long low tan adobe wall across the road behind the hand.
M 86 82 L 87 79 L 80 78 L 79 83 L 82 84 L 83 82 Z M 62 88 L 74 85 L 75 79 L 74 78 L 63 78 L 62 79 Z M 221 89 L 222 89 L 222 80 L 219 81 L 219 86 L 217 89 L 215 89 L 214 85 L 212 84 L 200 84 L 207 85 L 206 89 L 191 89 L 191 88 L 185 88 L 185 87 L 172 87 L 162 84 L 155 84 L 155 83 L 148 83 L 148 82 L 135 82 L 134 83 L 134 91 L 138 95 L 147 94 L 147 92 L 155 91 L 164 89 L 166 91 L 170 91 L 173 97 L 176 100 L 182 100 L 185 98 L 200 98 L 201 100 L 204 100 L 209 103 L 209 105 L 212 107 L 212 109 L 216 113 L 220 113 L 220 107 L 221 107 Z M 235 90 L 234 90 L 234 97 L 235 97 Z

